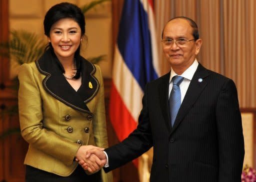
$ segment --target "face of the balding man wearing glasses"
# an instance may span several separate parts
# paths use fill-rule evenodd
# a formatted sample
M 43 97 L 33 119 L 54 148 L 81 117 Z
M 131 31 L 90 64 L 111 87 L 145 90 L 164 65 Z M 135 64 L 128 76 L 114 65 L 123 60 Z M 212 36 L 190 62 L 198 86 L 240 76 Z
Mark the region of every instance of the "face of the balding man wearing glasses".
M 165 58 L 177 74 L 182 74 L 193 63 L 195 56 L 200 50 L 202 41 L 201 39 L 192 40 L 194 39 L 192 27 L 187 20 L 182 18 L 173 19 L 165 25 L 162 39 L 165 38 L 191 40 L 185 41 L 182 45 L 177 45 L 176 42 L 166 45 L 162 42 Z

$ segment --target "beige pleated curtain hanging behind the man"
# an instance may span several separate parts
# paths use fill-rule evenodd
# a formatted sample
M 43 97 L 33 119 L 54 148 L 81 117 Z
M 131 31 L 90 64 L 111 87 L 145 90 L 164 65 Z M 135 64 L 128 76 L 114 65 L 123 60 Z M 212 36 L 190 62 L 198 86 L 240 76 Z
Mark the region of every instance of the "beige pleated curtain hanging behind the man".
M 188 16 L 203 40 L 198 61 L 235 82 L 240 107 L 255 108 L 256 1 L 155 0 L 154 6 L 162 74 L 169 70 L 160 45 L 162 28 L 174 16 Z

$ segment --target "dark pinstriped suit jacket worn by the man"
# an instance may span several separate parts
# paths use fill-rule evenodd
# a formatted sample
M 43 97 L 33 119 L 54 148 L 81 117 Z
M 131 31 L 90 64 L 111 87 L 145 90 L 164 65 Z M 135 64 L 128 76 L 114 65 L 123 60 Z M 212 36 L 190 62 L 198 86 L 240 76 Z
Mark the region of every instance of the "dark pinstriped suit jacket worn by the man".
M 240 182 L 244 144 L 234 82 L 199 64 L 171 128 L 169 76 L 146 85 L 138 126 L 105 150 L 105 171 L 153 146 L 150 182 Z

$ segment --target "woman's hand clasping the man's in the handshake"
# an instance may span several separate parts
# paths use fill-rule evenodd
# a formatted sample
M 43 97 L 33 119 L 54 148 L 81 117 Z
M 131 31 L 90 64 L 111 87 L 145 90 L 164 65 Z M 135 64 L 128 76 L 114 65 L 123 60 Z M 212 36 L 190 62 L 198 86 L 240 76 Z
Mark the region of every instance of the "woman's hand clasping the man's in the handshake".
M 81 146 L 76 153 L 75 160 L 80 162 L 83 162 L 82 168 L 86 171 L 89 171 L 90 173 L 96 173 L 104 166 L 104 161 L 101 161 L 96 155 L 90 155 L 89 157 L 86 157 L 86 152 L 89 150 L 98 150 L 103 151 L 104 149 L 95 147 L 95 146 Z

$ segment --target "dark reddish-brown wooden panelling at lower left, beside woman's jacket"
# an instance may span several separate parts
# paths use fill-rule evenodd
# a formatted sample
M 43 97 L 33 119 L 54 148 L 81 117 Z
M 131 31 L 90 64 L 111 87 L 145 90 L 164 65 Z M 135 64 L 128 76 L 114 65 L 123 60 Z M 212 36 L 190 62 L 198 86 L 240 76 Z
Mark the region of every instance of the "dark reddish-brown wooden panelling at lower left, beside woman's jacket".
M 6 93 L 6 92 L 5 92 Z M 12 114 L 10 109 L 17 105 L 17 99 L 12 94 L 1 94 L 0 92 L 0 134 L 9 129 L 16 129 L 14 133 L 8 134 L 1 139 L 0 150 L 0 180 L 6 182 L 24 182 L 24 157 L 27 151 L 27 143 L 22 139 L 19 129 L 17 113 Z M 2 96 L 5 96 L 4 98 Z

